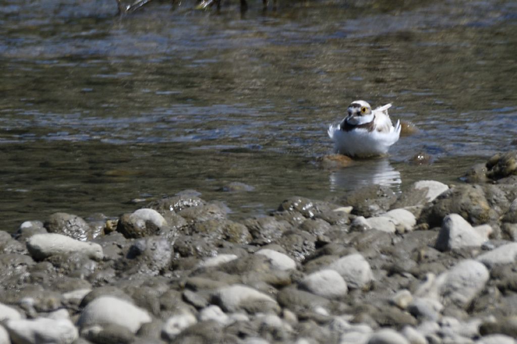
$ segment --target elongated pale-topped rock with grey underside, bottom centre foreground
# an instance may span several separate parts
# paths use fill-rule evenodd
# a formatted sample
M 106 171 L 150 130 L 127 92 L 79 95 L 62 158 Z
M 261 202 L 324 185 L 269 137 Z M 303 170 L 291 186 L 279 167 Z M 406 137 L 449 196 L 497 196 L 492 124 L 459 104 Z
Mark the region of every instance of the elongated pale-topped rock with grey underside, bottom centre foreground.
M 222 287 L 214 293 L 212 301 L 226 312 L 246 310 L 249 313 L 271 311 L 278 313 L 280 311 L 277 301 L 244 285 Z

